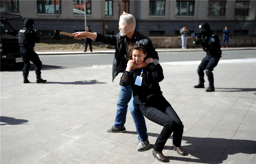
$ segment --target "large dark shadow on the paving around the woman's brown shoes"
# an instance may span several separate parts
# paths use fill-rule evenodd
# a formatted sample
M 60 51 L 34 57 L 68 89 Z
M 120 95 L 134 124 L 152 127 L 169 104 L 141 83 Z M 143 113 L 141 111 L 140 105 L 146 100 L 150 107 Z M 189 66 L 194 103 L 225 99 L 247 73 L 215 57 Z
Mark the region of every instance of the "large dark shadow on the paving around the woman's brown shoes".
M 126 131 L 125 133 L 137 134 L 136 131 Z M 147 133 L 148 136 L 157 137 L 159 134 Z M 172 139 L 172 136 L 169 138 Z M 225 163 L 228 155 L 233 154 L 253 154 L 256 141 L 243 139 L 225 139 L 225 138 L 199 138 L 199 137 L 182 137 L 186 144 L 181 145 L 186 151 L 186 155 L 190 154 L 195 158 L 187 158 L 185 156 L 174 157 L 165 156 L 168 160 L 189 161 L 193 163 Z M 147 150 L 151 150 L 155 143 L 151 143 Z M 173 150 L 172 145 L 165 145 L 164 150 Z M 241 158 L 242 155 L 240 154 Z M 168 161 L 169 162 L 169 161 Z

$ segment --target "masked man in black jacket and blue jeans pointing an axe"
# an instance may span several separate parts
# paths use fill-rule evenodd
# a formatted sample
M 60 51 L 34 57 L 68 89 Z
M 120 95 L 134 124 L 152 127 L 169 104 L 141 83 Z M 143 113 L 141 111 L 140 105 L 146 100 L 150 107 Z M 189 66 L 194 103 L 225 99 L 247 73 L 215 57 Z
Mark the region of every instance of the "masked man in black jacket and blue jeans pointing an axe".
M 93 41 L 99 41 L 105 44 L 110 44 L 116 46 L 116 52 L 113 61 L 112 68 L 112 80 L 114 81 L 118 73 L 124 72 L 127 66 L 129 56 L 128 48 L 130 43 L 140 42 L 146 45 L 148 55 L 154 59 L 154 64 L 158 64 L 159 58 L 158 54 L 153 47 L 151 40 L 148 37 L 135 31 L 136 21 L 135 18 L 128 13 L 123 13 L 119 19 L 119 30 L 117 35 L 105 35 L 101 33 L 89 33 L 89 32 L 77 32 L 75 34 L 76 39 L 82 39 L 82 36 L 91 38 Z M 135 65 L 133 69 L 148 67 L 145 62 L 140 65 Z M 134 103 L 132 98 L 132 88 L 131 86 L 121 86 L 119 97 L 117 100 L 117 111 L 116 119 L 113 126 L 106 129 L 106 132 L 125 132 L 124 123 L 126 120 L 126 113 L 128 108 L 128 103 L 130 102 L 130 111 L 132 118 L 134 120 L 136 131 L 139 134 L 139 141 L 136 143 L 137 151 L 144 151 L 149 146 L 147 127 L 145 123 L 144 116 L 140 112 L 140 109 Z

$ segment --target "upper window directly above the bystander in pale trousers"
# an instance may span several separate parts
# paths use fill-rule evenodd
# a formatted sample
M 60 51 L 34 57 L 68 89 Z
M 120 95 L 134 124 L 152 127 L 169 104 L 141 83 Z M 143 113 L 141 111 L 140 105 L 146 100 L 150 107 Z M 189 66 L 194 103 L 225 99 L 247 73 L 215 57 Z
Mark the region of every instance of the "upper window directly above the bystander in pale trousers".
M 176 15 L 194 15 L 195 1 L 176 1 Z

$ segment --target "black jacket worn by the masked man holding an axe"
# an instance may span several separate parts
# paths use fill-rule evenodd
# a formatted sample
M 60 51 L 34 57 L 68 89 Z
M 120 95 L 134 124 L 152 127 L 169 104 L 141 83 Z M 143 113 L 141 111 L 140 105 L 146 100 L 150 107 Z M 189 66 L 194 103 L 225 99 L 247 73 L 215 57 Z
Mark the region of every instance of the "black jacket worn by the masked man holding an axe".
M 138 33 L 137 31 L 134 31 L 132 39 L 129 41 L 126 36 L 121 36 L 120 32 L 117 35 L 106 35 L 97 33 L 97 38 L 95 39 L 95 41 L 116 46 L 116 52 L 112 68 L 112 81 L 114 81 L 118 73 L 124 72 L 126 69 L 128 62 L 127 57 L 129 56 L 128 47 L 130 43 L 136 43 L 137 41 L 139 41 L 146 46 L 147 56 L 145 60 L 149 57 L 159 60 L 156 48 L 153 47 L 152 41 L 148 37 Z

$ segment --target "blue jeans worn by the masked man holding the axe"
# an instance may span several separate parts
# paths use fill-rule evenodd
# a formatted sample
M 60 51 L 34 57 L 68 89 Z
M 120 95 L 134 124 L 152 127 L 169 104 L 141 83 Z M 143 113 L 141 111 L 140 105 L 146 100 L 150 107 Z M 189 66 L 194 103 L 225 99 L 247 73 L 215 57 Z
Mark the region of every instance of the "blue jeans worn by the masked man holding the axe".
M 139 140 L 142 140 L 142 141 L 148 141 L 145 118 L 141 113 L 140 109 L 138 108 L 137 104 L 134 103 L 133 101 L 132 88 L 130 85 L 121 86 L 118 100 L 116 103 L 117 111 L 116 111 L 116 120 L 115 120 L 114 127 L 124 128 L 129 101 L 130 101 L 130 112 L 132 114 L 132 118 L 136 126 L 136 131 L 139 134 L 138 138 Z

